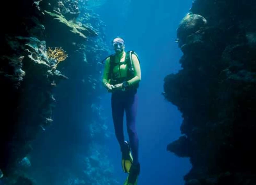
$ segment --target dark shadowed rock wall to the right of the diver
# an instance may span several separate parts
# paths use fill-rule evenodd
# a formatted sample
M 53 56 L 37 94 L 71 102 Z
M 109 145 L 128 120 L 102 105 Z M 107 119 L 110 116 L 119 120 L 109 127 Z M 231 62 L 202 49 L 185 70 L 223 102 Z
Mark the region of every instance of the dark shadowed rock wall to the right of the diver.
M 256 2 L 196 0 L 177 29 L 182 69 L 164 96 L 182 112 L 167 150 L 189 157 L 186 184 L 256 183 Z

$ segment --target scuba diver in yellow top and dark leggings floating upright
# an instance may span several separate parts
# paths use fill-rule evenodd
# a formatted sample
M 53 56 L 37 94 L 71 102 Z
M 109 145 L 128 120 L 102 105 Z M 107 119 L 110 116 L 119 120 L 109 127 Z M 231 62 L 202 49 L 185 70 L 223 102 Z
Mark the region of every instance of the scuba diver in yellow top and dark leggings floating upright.
M 111 108 L 115 134 L 122 152 L 122 168 L 124 173 L 128 173 L 124 185 L 135 185 L 140 174 L 139 139 L 135 129 L 137 89 L 141 80 L 140 61 L 134 51 L 124 51 L 124 39 L 116 37 L 112 45 L 115 54 L 104 59 L 106 63 L 102 82 L 108 92 L 112 93 Z M 129 142 L 124 141 L 124 111 Z

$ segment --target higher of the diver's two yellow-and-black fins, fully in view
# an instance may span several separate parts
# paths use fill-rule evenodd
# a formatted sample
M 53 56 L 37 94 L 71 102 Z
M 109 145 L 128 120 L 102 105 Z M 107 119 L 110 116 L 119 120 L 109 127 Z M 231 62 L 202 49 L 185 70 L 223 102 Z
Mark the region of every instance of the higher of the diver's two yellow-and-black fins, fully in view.
M 124 173 L 129 173 L 133 162 L 132 153 L 130 150 L 129 143 L 127 141 L 124 142 L 124 145 L 125 148 L 122 152 L 122 169 Z

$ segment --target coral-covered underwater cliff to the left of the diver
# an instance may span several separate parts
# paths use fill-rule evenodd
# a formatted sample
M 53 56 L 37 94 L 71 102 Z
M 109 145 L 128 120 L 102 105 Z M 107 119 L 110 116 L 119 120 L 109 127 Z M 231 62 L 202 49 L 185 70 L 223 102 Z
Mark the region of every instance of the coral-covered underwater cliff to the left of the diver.
M 1 11 L 0 183 L 115 184 L 102 152 L 107 128 L 99 105 L 105 93 L 100 60 L 109 51 L 99 15 L 83 0 L 6 1 L 4 7 L 10 12 Z M 59 138 L 48 131 L 53 125 Z M 33 141 L 47 132 L 55 147 L 35 152 Z M 76 146 L 67 145 L 72 142 Z M 51 155 L 49 164 L 43 151 Z M 50 169 L 60 156 L 70 164 Z M 80 164 L 74 174 L 71 163 Z

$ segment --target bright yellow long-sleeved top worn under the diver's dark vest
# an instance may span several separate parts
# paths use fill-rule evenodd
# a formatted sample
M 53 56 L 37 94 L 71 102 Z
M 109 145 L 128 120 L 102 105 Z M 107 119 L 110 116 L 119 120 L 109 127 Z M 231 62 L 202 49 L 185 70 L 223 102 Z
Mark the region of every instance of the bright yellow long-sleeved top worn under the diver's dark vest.
M 126 55 L 126 53 L 123 52 L 119 55 L 120 58 L 115 57 L 115 63 L 117 64 L 120 62 L 120 65 L 115 65 L 115 67 L 113 68 L 113 74 L 117 78 L 125 77 L 127 75 L 128 66 L 127 66 L 127 64 L 124 63 L 125 55 Z M 103 72 L 102 82 L 104 85 L 106 83 L 109 83 L 109 80 L 110 80 L 110 79 L 108 79 L 108 74 L 110 72 L 109 71 L 109 67 L 110 67 L 109 60 L 110 60 L 110 57 L 108 57 L 106 59 L 105 68 L 104 68 L 104 72 Z M 136 84 L 136 83 L 140 82 L 140 80 L 141 80 L 140 62 L 135 54 L 132 54 L 132 66 L 134 68 L 134 77 L 127 81 L 129 83 L 129 85 Z

